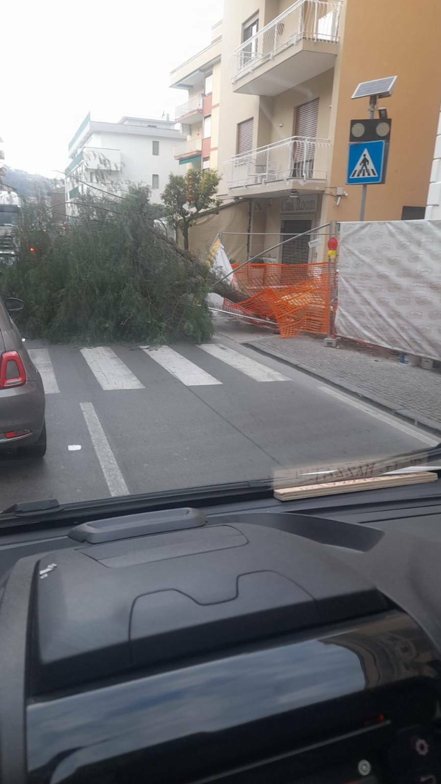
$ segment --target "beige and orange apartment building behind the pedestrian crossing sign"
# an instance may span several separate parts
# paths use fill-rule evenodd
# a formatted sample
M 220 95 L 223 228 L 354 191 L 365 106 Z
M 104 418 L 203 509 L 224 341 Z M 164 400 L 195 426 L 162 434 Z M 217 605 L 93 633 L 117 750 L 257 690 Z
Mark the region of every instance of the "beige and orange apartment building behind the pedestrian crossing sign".
M 234 250 L 244 260 L 290 234 L 358 220 L 361 187 L 346 185 L 349 122 L 367 118 L 368 102 L 351 96 L 359 82 L 395 74 L 395 92 L 381 100 L 392 118 L 388 175 L 368 188 L 365 217 L 424 216 L 440 29 L 439 0 L 225 0 L 215 146 L 220 195 L 235 205 L 210 227 L 196 224 L 191 247 L 205 249 L 209 234 L 234 223 L 251 230 Z M 268 260 L 321 260 L 323 251 L 304 241 Z

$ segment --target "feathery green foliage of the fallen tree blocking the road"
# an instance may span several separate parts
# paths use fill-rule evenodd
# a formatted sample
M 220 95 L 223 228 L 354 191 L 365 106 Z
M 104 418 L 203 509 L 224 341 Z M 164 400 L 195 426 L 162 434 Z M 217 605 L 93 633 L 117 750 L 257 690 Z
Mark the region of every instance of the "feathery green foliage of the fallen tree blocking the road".
M 210 270 L 156 230 L 148 188 L 83 196 L 65 227 L 44 198 L 25 205 L 2 296 L 18 296 L 25 335 L 51 341 L 196 343 L 212 334 Z

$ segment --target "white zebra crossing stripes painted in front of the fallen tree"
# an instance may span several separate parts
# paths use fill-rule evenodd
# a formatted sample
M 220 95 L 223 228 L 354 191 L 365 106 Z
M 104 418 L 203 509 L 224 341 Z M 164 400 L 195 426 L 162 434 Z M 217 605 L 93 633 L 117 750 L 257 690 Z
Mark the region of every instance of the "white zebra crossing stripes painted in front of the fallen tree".
M 155 363 L 155 365 L 151 365 L 151 369 L 159 365 L 162 371 L 169 373 L 170 376 L 173 376 L 173 379 L 177 379 L 185 387 L 216 387 L 230 383 L 233 380 L 233 376 L 230 372 L 227 378 L 225 377 L 225 365 L 232 368 L 235 373 L 247 376 L 248 379 L 252 379 L 257 383 L 289 380 L 287 376 L 283 376 L 279 371 L 264 365 L 263 362 L 252 359 L 223 343 L 202 343 L 198 348 L 179 348 L 180 350 L 169 346 L 133 347 L 134 354 L 130 354 L 130 357 L 138 355 L 138 358 L 135 362 L 129 360 L 132 368 L 129 368 L 117 353 L 118 351 L 126 359 L 128 356 L 126 353 L 127 349 L 119 350 L 118 347 L 115 347 L 114 350 L 110 346 L 69 349 L 70 359 L 68 361 L 71 364 L 72 362 L 75 364 L 77 386 L 78 383 L 81 383 L 82 377 L 85 377 L 87 380 L 88 377 L 90 379 L 93 376 L 99 387 L 106 392 L 112 390 L 144 390 L 146 385 L 149 384 L 150 378 L 148 372 L 146 373 L 149 365 L 144 365 L 144 361 L 150 363 L 151 360 Z M 78 357 L 76 352 L 78 352 L 81 359 L 75 359 L 75 357 Z M 202 352 L 206 356 L 206 361 L 204 361 Z M 186 353 L 190 354 L 191 359 L 185 356 Z M 67 361 L 63 352 L 56 350 L 54 355 L 51 356 L 50 347 L 49 349 L 30 348 L 29 355 L 41 373 L 46 394 L 60 394 L 60 390 L 63 391 L 65 368 L 59 365 L 60 363 L 63 365 L 63 362 Z M 144 360 L 140 361 L 139 357 L 144 357 Z M 208 359 L 209 357 L 210 360 Z M 217 361 L 217 365 L 213 365 L 213 361 Z M 206 369 L 203 365 L 209 365 L 209 368 Z M 90 373 L 92 373 L 92 376 L 89 375 Z M 138 378 L 137 374 L 140 378 Z M 158 379 L 157 374 L 155 378 Z

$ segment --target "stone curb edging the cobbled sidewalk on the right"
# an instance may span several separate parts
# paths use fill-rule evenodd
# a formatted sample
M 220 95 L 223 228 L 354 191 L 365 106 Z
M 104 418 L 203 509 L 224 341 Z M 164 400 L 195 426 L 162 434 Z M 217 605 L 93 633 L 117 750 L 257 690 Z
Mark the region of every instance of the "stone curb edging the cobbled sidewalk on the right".
M 437 422 L 436 419 L 430 419 L 427 416 L 424 416 L 423 414 L 420 414 L 419 412 L 410 408 L 394 408 L 393 405 L 389 403 L 389 401 L 385 400 L 384 397 L 379 397 L 374 394 L 367 394 L 366 390 L 363 390 L 361 387 L 354 387 L 352 384 L 341 383 L 341 379 L 339 379 L 338 376 L 333 376 L 331 373 L 326 375 L 316 368 L 311 368 L 308 365 L 303 365 L 301 362 L 287 359 L 285 354 L 282 354 L 282 351 L 269 351 L 260 346 L 257 346 L 255 343 L 242 343 L 242 346 L 251 348 L 254 351 L 257 351 L 259 354 L 264 354 L 266 357 L 277 358 L 282 362 L 285 362 L 286 365 L 290 365 L 292 368 L 301 370 L 301 372 L 306 373 L 308 376 L 312 376 L 319 381 L 326 381 L 327 383 L 332 384 L 333 387 L 337 387 L 337 389 L 341 390 L 342 392 L 353 394 L 355 397 L 361 397 L 362 400 L 366 402 L 374 403 L 377 408 L 382 408 L 385 411 L 392 412 L 395 414 L 395 416 L 398 416 L 399 419 L 404 419 L 406 422 L 412 425 L 418 425 L 422 430 L 435 430 L 435 434 L 441 437 L 441 422 Z

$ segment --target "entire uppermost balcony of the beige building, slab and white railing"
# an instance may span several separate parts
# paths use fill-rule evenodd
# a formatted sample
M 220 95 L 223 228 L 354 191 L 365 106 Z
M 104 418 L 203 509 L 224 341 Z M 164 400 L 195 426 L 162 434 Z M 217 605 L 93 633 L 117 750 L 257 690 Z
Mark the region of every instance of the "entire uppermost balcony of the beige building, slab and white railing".
M 297 0 L 231 55 L 235 93 L 275 96 L 333 67 L 341 0 Z

